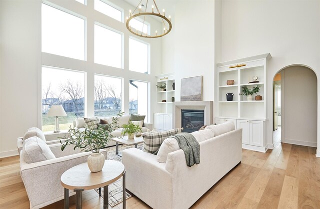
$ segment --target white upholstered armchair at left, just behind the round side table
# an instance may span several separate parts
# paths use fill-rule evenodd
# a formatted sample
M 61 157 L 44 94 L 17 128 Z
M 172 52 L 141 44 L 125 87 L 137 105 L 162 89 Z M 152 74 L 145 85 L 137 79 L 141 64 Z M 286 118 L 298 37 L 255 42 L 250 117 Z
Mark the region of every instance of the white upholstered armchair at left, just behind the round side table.
M 60 177 L 69 168 L 87 161 L 88 152 L 80 152 L 80 149 L 73 150 L 69 145 L 61 151 L 61 144 L 48 145 L 55 159 L 26 163 L 22 155 L 22 138 L 17 139 L 18 152 L 20 155 L 20 175 L 30 201 L 30 208 L 42 208 L 44 206 L 62 200 L 64 190 L 60 184 Z M 100 150 L 105 156 L 106 151 Z M 69 196 L 74 195 L 69 193 Z

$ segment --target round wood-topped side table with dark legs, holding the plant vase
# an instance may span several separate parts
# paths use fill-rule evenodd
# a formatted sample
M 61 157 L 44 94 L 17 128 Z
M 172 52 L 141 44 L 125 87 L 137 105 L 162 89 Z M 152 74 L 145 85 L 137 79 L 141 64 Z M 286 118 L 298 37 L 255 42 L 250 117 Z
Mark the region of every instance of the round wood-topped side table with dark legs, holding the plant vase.
M 64 209 L 69 208 L 69 190 L 76 194 L 76 209 L 81 209 L 81 193 L 103 187 L 103 209 L 108 208 L 108 185 L 122 177 L 122 208 L 125 209 L 125 170 L 122 163 L 105 160 L 101 171 L 90 172 L 87 163 L 82 163 L 66 170 L 61 176 L 61 185 L 64 187 Z

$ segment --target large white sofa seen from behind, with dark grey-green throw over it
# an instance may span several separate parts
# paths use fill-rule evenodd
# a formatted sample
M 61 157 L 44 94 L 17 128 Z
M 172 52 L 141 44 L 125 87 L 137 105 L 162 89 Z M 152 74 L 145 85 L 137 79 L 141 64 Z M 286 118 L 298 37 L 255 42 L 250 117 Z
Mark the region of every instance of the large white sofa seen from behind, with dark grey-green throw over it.
M 153 209 L 192 206 L 241 162 L 242 129 L 234 130 L 233 124 L 233 130 L 223 133 L 217 127 L 214 133 L 220 135 L 199 142 L 200 163 L 192 167 L 186 166 L 181 149 L 168 153 L 165 163 L 159 163 L 156 155 L 135 148 L 123 150 L 126 189 Z

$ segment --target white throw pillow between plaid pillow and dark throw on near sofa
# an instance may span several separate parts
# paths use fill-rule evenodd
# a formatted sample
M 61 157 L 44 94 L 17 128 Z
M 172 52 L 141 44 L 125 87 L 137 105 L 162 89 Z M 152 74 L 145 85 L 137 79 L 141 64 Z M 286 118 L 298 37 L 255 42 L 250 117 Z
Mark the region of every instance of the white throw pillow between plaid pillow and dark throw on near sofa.
M 166 138 L 160 148 L 158 153 L 156 154 L 156 160 L 159 163 L 165 163 L 166 162 L 166 158 L 168 157 L 168 154 L 170 152 L 174 152 L 176 150 L 179 150 L 180 147 L 178 145 L 178 142 L 176 141 L 176 139 L 168 137 Z

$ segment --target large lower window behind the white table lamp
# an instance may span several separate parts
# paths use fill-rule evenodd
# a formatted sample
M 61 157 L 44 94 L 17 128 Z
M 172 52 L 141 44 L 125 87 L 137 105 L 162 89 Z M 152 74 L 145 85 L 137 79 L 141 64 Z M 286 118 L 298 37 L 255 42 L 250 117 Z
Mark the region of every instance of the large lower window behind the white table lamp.
M 72 121 L 83 117 L 84 73 L 42 67 L 42 131 L 54 129 L 55 118 L 46 116 L 51 105 L 62 105 L 67 116 L 59 117 L 60 130 L 68 130 Z

